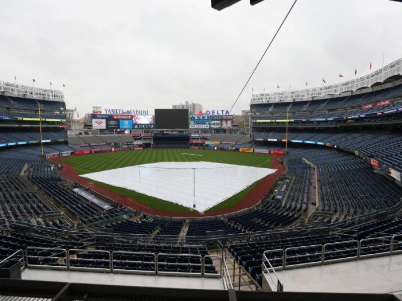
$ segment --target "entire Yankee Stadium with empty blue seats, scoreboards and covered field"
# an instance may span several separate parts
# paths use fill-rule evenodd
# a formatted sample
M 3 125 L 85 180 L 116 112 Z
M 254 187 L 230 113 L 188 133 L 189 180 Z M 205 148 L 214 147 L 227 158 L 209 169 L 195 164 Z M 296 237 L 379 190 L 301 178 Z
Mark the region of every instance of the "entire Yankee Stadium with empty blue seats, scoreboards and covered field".
M 0 81 L 0 300 L 402 298 L 402 59 L 240 115 L 91 106 Z

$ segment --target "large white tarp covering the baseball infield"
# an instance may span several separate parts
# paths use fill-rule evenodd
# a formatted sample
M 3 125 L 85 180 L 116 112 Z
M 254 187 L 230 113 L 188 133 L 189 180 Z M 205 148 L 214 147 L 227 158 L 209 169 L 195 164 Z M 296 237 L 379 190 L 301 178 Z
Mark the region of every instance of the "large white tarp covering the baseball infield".
M 81 177 L 189 208 L 193 208 L 195 203 L 195 210 L 202 212 L 275 171 L 212 162 L 159 162 L 85 174 Z

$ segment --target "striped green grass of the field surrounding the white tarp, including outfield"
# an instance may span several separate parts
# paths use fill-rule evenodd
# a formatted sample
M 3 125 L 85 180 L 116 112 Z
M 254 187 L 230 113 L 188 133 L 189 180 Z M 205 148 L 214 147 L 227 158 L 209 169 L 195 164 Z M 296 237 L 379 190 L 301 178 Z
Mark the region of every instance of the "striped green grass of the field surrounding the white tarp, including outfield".
M 202 157 L 186 156 L 183 155 L 183 153 L 202 155 Z M 155 162 L 208 161 L 261 168 L 271 168 L 270 159 L 271 155 L 267 154 L 248 154 L 202 149 L 146 149 L 135 151 L 129 150 L 117 153 L 103 153 L 96 155 L 66 157 L 61 158 L 60 162 L 66 162 L 70 164 L 77 172 L 77 174 L 83 175 L 88 173 Z M 187 207 L 143 194 L 140 196 L 139 193 L 129 189 L 115 187 L 99 182 L 97 182 L 97 185 L 116 191 L 119 194 L 129 197 L 133 200 L 141 200 L 141 204 L 144 204 L 151 208 L 173 213 L 191 212 L 191 209 Z M 256 183 L 254 183 L 244 191 L 214 206 L 208 211 L 216 211 L 236 205 L 255 185 Z

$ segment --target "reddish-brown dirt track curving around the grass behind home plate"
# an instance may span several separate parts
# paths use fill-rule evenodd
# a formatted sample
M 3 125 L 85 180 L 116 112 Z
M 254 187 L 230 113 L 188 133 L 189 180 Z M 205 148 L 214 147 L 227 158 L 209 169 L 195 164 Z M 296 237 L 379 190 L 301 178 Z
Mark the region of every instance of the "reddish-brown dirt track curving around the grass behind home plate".
M 81 178 L 75 172 L 73 167 L 66 162 L 59 162 L 58 159 L 51 159 L 52 162 L 57 164 L 61 164 L 64 169 L 59 171 L 59 175 L 69 181 L 79 183 L 99 194 L 102 194 L 117 203 L 132 208 L 136 211 L 140 211 L 143 213 L 151 214 L 151 215 L 161 215 L 166 217 L 207 217 L 207 216 L 216 216 L 222 214 L 228 214 L 236 211 L 240 211 L 253 205 L 257 204 L 259 200 L 261 200 L 266 192 L 272 187 L 275 181 L 279 178 L 279 176 L 284 172 L 285 168 L 280 163 L 281 156 L 272 156 L 271 158 L 271 168 L 276 169 L 277 171 L 271 175 L 266 176 L 264 179 L 257 184 L 257 186 L 250 191 L 242 200 L 240 200 L 236 205 L 225 208 L 222 210 L 217 210 L 213 212 L 193 212 L 193 213 L 176 213 L 176 212 L 167 212 L 161 211 L 154 208 L 147 207 L 143 204 L 140 204 L 137 200 L 130 199 L 128 197 L 122 196 L 121 194 L 112 191 L 110 189 L 99 186 L 93 182 L 88 181 L 87 179 Z

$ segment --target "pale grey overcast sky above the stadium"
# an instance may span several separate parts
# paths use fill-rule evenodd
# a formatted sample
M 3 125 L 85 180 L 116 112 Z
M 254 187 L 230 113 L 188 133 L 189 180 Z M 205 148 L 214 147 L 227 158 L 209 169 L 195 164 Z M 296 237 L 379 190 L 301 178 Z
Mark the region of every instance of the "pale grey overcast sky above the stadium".
M 80 115 L 102 108 L 229 109 L 293 0 L 2 0 L 0 80 L 64 89 Z M 298 0 L 233 112 L 254 93 L 337 83 L 402 56 L 402 4 Z

